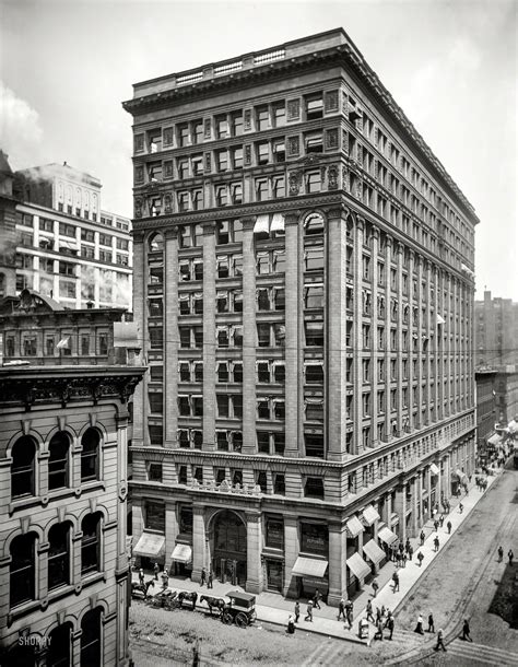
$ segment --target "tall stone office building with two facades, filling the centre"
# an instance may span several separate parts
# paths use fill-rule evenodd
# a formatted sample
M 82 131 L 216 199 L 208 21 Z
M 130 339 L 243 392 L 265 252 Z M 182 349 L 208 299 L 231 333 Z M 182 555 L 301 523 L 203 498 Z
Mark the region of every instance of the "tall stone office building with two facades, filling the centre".
M 337 604 L 473 470 L 478 218 L 342 30 L 123 106 L 134 555 Z

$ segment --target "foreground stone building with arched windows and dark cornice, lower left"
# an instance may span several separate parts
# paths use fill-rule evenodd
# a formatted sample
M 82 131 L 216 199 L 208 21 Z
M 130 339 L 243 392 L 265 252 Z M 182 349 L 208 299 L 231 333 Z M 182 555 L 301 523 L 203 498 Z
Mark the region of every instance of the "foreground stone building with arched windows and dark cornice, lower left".
M 0 368 L 0 663 L 127 665 L 127 400 L 142 367 Z

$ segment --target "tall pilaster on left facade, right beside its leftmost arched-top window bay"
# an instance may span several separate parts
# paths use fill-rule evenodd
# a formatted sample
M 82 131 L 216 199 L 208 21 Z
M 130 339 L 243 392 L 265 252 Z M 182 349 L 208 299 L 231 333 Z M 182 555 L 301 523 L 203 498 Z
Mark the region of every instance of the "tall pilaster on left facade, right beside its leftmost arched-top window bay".
M 164 254 L 164 442 L 177 446 L 178 428 L 178 234 L 165 232 Z

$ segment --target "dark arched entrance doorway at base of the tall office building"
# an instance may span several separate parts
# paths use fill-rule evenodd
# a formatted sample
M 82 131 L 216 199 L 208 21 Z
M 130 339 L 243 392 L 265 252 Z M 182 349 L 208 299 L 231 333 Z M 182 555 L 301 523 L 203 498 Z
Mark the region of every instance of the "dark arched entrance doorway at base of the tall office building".
M 234 512 L 224 510 L 216 514 L 213 526 L 212 571 L 221 582 L 228 582 L 233 586 L 245 586 L 247 577 L 245 523 Z

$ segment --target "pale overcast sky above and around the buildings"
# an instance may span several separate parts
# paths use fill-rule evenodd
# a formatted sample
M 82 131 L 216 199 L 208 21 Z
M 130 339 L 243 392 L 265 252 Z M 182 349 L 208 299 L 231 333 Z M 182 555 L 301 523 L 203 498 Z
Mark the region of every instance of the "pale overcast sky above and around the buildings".
M 131 215 L 132 83 L 342 26 L 481 219 L 476 299 L 518 301 L 518 0 L 0 0 L 0 148 Z

